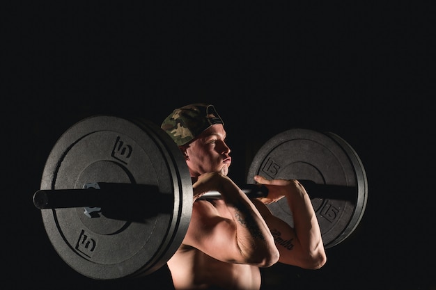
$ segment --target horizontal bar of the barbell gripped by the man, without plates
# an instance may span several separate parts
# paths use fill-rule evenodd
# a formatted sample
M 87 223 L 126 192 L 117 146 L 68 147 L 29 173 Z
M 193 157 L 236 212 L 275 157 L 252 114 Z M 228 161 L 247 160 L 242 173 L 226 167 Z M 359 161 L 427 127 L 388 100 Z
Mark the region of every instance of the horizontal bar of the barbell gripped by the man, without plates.
M 311 198 L 338 198 L 346 200 L 352 198 L 356 190 L 354 186 L 334 186 L 315 184 L 311 180 L 299 182 L 311 193 Z M 241 190 L 249 198 L 265 198 L 268 194 L 266 186 L 260 184 L 244 184 Z M 88 189 L 91 189 L 88 191 Z M 98 191 L 95 191 L 98 189 Z M 143 193 L 148 193 L 144 195 Z M 198 200 L 219 200 L 221 193 L 208 191 Z M 107 182 L 93 182 L 84 184 L 83 189 L 45 189 L 33 194 L 33 205 L 38 209 L 65 209 L 70 207 L 134 207 L 141 204 L 142 210 L 151 208 L 164 209 L 164 200 L 159 196 L 157 186 L 146 184 L 113 184 Z

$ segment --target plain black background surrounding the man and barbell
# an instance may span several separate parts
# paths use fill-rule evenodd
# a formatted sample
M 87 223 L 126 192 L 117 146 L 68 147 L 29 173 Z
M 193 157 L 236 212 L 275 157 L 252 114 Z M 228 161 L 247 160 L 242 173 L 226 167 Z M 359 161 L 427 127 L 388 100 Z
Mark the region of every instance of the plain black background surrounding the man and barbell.
M 226 122 L 235 182 L 293 127 L 338 134 L 364 163 L 357 230 L 318 271 L 265 269 L 264 289 L 436 289 L 428 7 L 17 1 L 3 13 L 3 289 L 166 289 L 165 269 L 123 282 L 73 271 L 32 196 L 72 124 L 100 113 L 160 124 L 192 102 L 215 104 Z

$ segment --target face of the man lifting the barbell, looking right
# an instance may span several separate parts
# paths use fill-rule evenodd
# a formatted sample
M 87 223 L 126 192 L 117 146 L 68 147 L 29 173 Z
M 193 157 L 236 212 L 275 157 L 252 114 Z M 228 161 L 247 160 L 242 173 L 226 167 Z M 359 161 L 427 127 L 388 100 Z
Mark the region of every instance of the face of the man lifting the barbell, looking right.
M 228 173 L 231 165 L 230 148 L 225 142 L 226 131 L 222 124 L 214 124 L 186 149 L 186 163 L 191 177 L 198 177 L 206 172 Z

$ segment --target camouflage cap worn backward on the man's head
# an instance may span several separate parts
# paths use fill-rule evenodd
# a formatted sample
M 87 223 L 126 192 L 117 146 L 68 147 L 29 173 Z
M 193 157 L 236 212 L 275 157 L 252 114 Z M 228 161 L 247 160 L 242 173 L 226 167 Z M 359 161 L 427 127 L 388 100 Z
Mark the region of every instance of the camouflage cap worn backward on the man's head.
M 178 146 L 182 146 L 194 140 L 212 124 L 224 125 L 215 106 L 197 103 L 176 108 L 166 117 L 160 127 L 173 138 Z

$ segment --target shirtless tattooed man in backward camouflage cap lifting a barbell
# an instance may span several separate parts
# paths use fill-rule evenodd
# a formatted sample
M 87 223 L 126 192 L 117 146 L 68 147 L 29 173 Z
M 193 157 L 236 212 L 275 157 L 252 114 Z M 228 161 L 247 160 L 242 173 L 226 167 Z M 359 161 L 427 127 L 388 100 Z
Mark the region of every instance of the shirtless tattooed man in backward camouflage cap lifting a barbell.
M 185 156 L 194 188 L 186 236 L 167 263 L 176 289 L 260 289 L 260 267 L 277 261 L 308 269 L 325 264 L 318 220 L 297 180 L 256 176 L 268 195 L 250 200 L 227 177 L 231 150 L 215 106 L 176 108 L 161 127 Z M 222 199 L 198 199 L 208 191 L 218 191 Z M 294 227 L 265 206 L 281 198 L 293 212 Z

